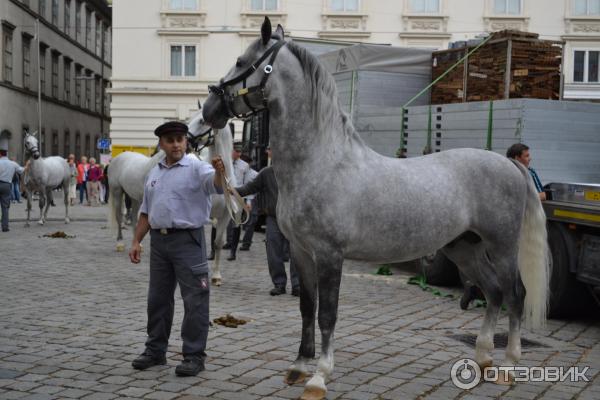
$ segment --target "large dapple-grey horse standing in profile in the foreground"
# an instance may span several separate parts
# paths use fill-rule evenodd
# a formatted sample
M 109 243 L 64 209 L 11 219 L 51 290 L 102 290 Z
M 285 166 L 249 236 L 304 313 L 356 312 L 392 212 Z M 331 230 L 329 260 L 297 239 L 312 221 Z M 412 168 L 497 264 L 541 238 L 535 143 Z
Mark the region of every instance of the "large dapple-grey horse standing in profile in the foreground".
M 203 115 L 213 127 L 232 115 L 269 110 L 277 220 L 301 286 L 302 341 L 286 374 L 290 384 L 305 379 L 315 355 L 318 295 L 321 355 L 302 398 L 326 395 L 344 258 L 398 262 L 442 249 L 487 299 L 476 362 L 492 365 L 503 303 L 509 314 L 503 365 L 519 362 L 521 317 L 543 325 L 548 292 L 546 220 L 524 167 L 476 149 L 411 159 L 375 153 L 341 110 L 332 76 L 285 41 L 281 26 L 271 32 L 267 18 L 261 37 L 209 89 Z

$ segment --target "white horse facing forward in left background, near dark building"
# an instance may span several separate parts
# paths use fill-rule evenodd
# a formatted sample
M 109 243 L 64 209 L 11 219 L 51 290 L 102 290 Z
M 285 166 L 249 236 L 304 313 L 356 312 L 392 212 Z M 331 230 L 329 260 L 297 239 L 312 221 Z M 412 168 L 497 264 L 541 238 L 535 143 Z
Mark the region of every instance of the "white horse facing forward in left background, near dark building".
M 23 178 L 27 195 L 27 222 L 25 226 L 29 226 L 33 193 L 38 192 L 40 195 L 40 219 L 38 224 L 44 225 L 48 218 L 48 208 L 50 208 L 50 203 L 52 202 L 52 190 L 57 187 L 62 187 L 65 198 L 65 224 L 68 224 L 70 222 L 69 181 L 71 179 L 69 164 L 64 158 L 59 156 L 40 157 L 38 141 L 29 132 L 25 134 L 25 153 L 30 157 Z

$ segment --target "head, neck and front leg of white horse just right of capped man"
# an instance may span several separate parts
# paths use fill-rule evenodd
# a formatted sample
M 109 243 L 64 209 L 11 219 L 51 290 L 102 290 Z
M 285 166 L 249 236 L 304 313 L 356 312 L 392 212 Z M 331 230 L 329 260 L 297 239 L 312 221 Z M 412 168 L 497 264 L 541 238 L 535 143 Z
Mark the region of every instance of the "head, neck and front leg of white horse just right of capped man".
M 233 137 L 231 130 L 226 125 L 223 129 L 213 130 L 209 133 L 210 127 L 204 124 L 202 113 L 198 112 L 189 123 L 189 131 L 192 137 L 200 138 L 204 146 L 208 146 L 209 159 L 213 157 L 221 156 L 223 164 L 225 165 L 225 175 L 227 181 L 232 187 L 236 186 L 235 175 L 233 174 L 233 161 L 231 159 L 231 152 L 233 150 Z M 227 231 L 227 225 L 229 219 L 232 217 L 230 211 L 227 209 L 225 202 L 225 196 L 222 194 L 213 194 L 211 196 L 212 208 L 210 211 L 210 218 L 213 226 L 216 229 L 214 253 L 215 259 L 212 264 L 212 283 L 216 286 L 221 286 L 223 277 L 221 276 L 221 270 L 219 268 L 221 260 L 221 248 L 225 242 L 225 232 Z M 234 207 L 233 213 L 241 212 L 241 210 Z

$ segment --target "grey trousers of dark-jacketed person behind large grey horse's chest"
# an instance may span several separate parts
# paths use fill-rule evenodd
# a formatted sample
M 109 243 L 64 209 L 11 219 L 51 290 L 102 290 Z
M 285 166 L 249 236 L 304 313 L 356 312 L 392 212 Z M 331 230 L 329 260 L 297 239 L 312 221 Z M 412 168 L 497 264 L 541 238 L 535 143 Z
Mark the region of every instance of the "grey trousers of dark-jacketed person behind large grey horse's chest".
M 285 287 L 287 276 L 285 274 L 285 264 L 283 262 L 285 255 L 285 246 L 288 245 L 287 239 L 279 230 L 277 219 L 267 216 L 267 263 L 269 264 L 269 274 L 273 285 L 276 287 Z M 293 260 L 292 260 L 293 261 Z M 298 274 L 294 263 L 290 261 L 290 281 L 292 288 L 299 286 Z

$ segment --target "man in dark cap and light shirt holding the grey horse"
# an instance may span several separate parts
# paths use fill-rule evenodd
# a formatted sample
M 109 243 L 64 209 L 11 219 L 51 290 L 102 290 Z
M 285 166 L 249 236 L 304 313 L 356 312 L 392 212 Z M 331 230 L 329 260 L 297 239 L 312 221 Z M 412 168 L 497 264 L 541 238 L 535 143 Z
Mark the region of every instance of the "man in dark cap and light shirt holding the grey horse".
M 209 279 L 204 225 L 210 216 L 210 196 L 223 193 L 223 161 L 212 166 L 186 155 L 187 125 L 167 122 L 154 131 L 166 158 L 148 174 L 144 198 L 129 258 L 140 262 L 140 242 L 150 231 L 150 284 L 146 350 L 132 362 L 136 369 L 166 364 L 165 354 L 179 283 L 184 304 L 181 338 L 183 362 L 179 376 L 204 370 L 209 326 Z M 215 172 L 216 171 L 216 172 Z

